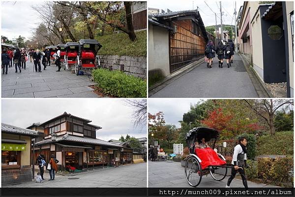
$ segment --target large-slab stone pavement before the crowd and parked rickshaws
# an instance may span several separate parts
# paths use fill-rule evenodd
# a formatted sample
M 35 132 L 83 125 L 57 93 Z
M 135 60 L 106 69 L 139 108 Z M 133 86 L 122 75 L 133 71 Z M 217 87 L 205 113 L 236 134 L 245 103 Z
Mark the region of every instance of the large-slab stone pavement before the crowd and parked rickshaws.
M 27 62 L 26 70 L 15 73 L 15 67 L 8 68 L 8 74 L 1 74 L 2 98 L 97 98 L 89 86 L 95 83 L 90 76 L 77 76 L 55 65 L 47 66 L 42 72 L 34 72 L 33 63 Z

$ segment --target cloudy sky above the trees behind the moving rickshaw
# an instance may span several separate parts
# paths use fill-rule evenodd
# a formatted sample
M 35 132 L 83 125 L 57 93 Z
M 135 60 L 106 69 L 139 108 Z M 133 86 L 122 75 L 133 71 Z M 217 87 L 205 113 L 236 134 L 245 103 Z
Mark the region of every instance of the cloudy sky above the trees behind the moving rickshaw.
M 148 99 L 148 112 L 155 114 L 159 111 L 164 113 L 166 124 L 180 127 L 178 121 L 182 120 L 182 115 L 189 111 L 190 105 L 195 105 L 202 99 Z M 203 99 L 206 100 L 206 99 Z

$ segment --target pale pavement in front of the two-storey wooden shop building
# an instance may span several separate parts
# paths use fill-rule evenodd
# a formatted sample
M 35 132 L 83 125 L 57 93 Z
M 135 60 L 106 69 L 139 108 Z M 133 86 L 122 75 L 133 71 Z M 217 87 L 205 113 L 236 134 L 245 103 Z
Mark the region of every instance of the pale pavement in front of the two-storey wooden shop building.
M 48 172 L 48 171 L 47 171 Z M 35 175 L 37 172 L 35 173 Z M 147 187 L 147 163 L 130 164 L 115 168 L 102 170 L 89 170 L 71 175 L 57 175 L 54 181 L 50 179 L 48 173 L 44 173 L 46 179 L 43 183 L 29 181 L 19 184 L 6 185 L 8 188 L 135 188 Z

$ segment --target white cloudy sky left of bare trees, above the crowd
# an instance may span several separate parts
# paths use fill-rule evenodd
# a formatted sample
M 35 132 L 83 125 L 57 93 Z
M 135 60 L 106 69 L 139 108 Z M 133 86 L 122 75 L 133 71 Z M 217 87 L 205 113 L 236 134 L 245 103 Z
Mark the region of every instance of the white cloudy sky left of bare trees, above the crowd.
M 41 3 L 43 1 L 1 1 L 1 35 L 10 40 L 19 35 L 29 39 L 32 29 L 41 22 L 31 5 Z

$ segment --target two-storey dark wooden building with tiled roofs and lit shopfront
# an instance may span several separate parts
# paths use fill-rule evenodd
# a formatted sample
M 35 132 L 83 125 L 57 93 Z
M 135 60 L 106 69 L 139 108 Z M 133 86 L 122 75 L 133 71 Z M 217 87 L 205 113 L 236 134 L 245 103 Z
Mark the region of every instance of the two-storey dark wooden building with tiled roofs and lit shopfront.
M 38 125 L 43 128 L 44 137 L 35 141 L 35 158 L 41 154 L 49 161 L 53 154 L 59 160 L 59 168 L 68 170 L 109 166 L 120 157 L 123 147 L 97 139 L 96 131 L 102 128 L 90 122 L 64 112 Z

